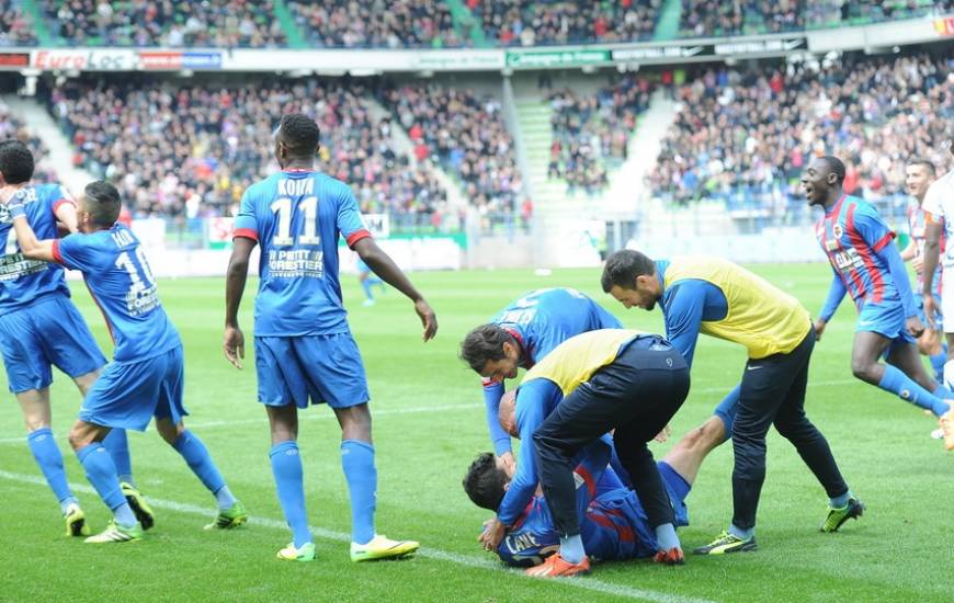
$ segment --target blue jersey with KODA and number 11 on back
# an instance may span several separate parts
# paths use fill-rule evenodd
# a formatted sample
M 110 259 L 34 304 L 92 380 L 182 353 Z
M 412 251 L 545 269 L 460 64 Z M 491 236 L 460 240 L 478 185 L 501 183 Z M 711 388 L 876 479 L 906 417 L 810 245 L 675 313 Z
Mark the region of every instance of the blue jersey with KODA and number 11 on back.
M 235 236 L 261 246 L 255 335 L 348 332 L 338 237 L 370 237 L 351 189 L 311 170 L 283 171 L 248 187 Z

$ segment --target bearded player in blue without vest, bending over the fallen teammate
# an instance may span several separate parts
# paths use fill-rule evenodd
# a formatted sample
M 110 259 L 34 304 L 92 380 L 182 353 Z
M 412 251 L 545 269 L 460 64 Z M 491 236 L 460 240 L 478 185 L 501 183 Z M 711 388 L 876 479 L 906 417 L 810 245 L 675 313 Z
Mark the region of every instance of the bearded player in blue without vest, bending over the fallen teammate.
M 616 317 L 582 293 L 559 287 L 527 293 L 464 338 L 461 357 L 484 377 L 487 429 L 495 452 L 511 476 L 515 464 L 510 436 L 497 420 L 503 380 L 516 377 L 518 368 L 532 368 L 573 335 L 622 328 Z

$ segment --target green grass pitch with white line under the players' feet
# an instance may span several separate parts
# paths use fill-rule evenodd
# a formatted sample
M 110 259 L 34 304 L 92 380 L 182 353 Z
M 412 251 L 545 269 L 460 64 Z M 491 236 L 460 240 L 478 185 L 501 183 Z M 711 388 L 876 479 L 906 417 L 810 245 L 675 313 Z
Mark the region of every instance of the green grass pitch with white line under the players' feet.
M 831 272 L 824 264 L 757 266 L 756 271 L 820 307 Z M 954 456 L 928 433 L 936 423 L 919 409 L 852 378 L 854 312 L 850 303 L 829 325 L 813 359 L 809 417 L 828 436 L 853 491 L 868 510 L 838 534 L 821 534 L 825 493 L 794 448 L 772 432 L 769 474 L 759 509 L 761 549 L 728 558 L 688 558 L 685 567 L 648 561 L 601 564 L 591 578 L 543 582 L 495 564 L 476 536 L 488 513 L 461 488 L 476 453 L 490 450 L 478 378 L 457 360 L 472 327 L 511 299 L 540 287 L 572 286 L 592 295 L 627 327 L 662 329 L 661 314 L 624 310 L 599 289 L 598 270 L 422 273 L 414 275 L 438 312 L 428 344 L 411 305 L 395 291 L 363 308 L 352 276 L 344 278 L 352 330 L 367 367 L 379 473 L 378 531 L 422 542 L 417 558 L 367 565 L 348 560 L 348 493 L 339 459 L 340 431 L 329 409 L 300 414 L 308 517 L 318 560 L 287 564 L 275 551 L 289 539 L 268 460 L 265 413 L 255 402 L 250 281 L 243 304 L 246 367 L 220 351 L 222 280 L 163 281 L 163 304 L 185 342 L 186 420 L 206 443 L 231 490 L 253 519 L 232 532 L 202 531 L 215 514 L 212 497 L 179 455 L 152 432 L 130 433 L 139 487 L 157 511 L 141 543 L 83 545 L 63 536 L 63 522 L 41 480 L 20 411 L 7 395 L 0 413 L 0 600 L 285 600 L 338 601 L 946 601 L 944 576 L 954 567 L 950 501 Z M 83 287 L 76 302 L 105 350 L 109 335 Z M 109 355 L 109 353 L 107 353 Z M 674 442 L 707 418 L 739 379 L 740 346 L 703 337 L 690 398 L 673 420 Z M 94 532 L 109 513 L 87 486 L 66 433 L 79 407 L 72 384 L 57 373 L 54 431 L 70 482 Z M 5 388 L 5 383 L 3 384 Z M 669 444 L 652 444 L 661 458 Z M 707 543 L 731 516 L 731 451 L 715 451 L 689 498 L 686 549 Z M 203 511 L 205 513 L 203 514 Z M 259 521 L 257 521 L 259 520 Z M 264 520 L 264 521 L 262 521 Z

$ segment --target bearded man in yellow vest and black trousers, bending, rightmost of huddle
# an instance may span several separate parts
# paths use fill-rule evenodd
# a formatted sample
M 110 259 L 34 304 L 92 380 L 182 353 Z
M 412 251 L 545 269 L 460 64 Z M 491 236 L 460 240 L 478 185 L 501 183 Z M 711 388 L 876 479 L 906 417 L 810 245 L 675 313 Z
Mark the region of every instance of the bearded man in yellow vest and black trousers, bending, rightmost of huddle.
M 690 365 L 701 332 L 745 345 L 749 352 L 731 430 L 732 523 L 694 553 L 756 550 L 765 435 L 773 423 L 828 493 L 821 531 L 836 532 L 849 519 L 861 516 L 864 504 L 851 493 L 828 442 L 805 416 L 815 330 L 808 310 L 794 297 L 726 260 L 685 255 L 654 262 L 633 250 L 617 251 L 606 260 L 602 286 L 627 308 L 651 310 L 661 302 L 667 337 Z

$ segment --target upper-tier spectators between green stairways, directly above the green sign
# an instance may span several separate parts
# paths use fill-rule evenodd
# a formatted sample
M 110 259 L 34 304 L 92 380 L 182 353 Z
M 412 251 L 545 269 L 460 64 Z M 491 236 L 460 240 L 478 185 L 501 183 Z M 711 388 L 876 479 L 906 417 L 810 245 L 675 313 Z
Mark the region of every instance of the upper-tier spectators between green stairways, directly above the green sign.
M 652 37 L 662 0 L 466 0 L 501 46 L 613 43 Z

